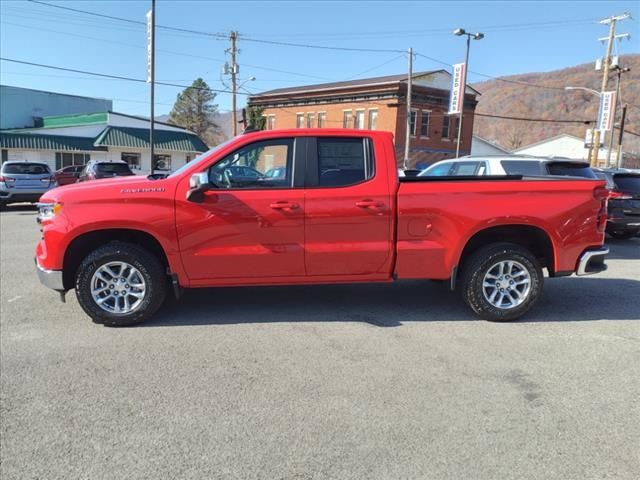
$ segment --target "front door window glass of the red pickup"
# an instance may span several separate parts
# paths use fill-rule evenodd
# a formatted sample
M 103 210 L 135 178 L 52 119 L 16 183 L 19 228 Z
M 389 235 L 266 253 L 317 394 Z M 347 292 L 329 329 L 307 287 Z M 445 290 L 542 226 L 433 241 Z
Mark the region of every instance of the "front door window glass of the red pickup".
M 293 139 L 246 145 L 213 165 L 209 181 L 218 188 L 291 188 Z

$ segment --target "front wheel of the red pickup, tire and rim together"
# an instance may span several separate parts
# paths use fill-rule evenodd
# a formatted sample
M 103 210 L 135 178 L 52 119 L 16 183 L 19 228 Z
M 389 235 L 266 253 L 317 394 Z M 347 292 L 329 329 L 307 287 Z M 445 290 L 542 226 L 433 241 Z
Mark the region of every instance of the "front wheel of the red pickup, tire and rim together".
M 76 275 L 76 296 L 94 322 L 125 327 L 148 320 L 162 305 L 167 278 L 160 261 L 125 242 L 91 252 Z

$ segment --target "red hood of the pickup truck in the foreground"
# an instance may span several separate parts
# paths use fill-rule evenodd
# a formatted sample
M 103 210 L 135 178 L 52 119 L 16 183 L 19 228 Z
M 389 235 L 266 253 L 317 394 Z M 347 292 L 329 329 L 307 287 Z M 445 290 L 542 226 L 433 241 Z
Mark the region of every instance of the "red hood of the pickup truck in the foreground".
M 43 203 L 115 200 L 136 193 L 154 193 L 167 190 L 167 179 L 149 180 L 146 176 L 115 177 L 72 183 L 45 193 Z M 171 182 L 173 183 L 173 182 Z

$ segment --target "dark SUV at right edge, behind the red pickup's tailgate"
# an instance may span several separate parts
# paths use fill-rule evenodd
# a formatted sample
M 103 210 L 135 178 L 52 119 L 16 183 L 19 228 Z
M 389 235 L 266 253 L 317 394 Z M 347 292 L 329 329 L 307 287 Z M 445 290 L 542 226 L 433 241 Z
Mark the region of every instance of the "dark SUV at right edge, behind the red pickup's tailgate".
M 604 168 L 594 169 L 594 172 L 607 181 L 611 191 L 607 233 L 620 239 L 640 235 L 640 173 Z

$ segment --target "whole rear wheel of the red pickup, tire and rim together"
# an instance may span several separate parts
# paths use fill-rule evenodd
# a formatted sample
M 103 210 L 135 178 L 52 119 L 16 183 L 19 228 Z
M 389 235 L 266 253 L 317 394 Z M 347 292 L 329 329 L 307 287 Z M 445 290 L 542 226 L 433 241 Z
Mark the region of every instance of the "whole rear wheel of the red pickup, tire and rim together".
M 466 260 L 462 295 L 481 318 L 515 320 L 533 307 L 542 293 L 544 276 L 538 259 L 513 243 L 488 245 Z

